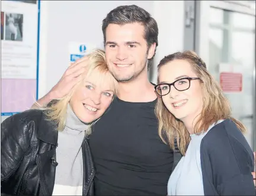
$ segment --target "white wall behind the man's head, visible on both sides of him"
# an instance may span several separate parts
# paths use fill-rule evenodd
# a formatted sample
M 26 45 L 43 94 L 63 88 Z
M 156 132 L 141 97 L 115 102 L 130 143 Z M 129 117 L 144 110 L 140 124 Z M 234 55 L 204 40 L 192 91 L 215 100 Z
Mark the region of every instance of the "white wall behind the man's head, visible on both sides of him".
M 102 20 L 119 5 L 138 5 L 158 23 L 156 66 L 167 54 L 183 50 L 184 1 L 41 1 L 39 98 L 59 81 L 69 63 L 68 43 L 103 43 Z

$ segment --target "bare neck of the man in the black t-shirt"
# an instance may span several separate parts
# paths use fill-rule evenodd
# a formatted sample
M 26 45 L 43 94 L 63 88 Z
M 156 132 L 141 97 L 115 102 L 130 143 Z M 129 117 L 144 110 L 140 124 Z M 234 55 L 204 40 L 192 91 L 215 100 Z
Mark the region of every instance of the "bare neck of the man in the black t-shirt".
M 119 82 L 119 99 L 128 102 L 151 102 L 157 96 L 154 86 L 143 73 L 132 81 Z

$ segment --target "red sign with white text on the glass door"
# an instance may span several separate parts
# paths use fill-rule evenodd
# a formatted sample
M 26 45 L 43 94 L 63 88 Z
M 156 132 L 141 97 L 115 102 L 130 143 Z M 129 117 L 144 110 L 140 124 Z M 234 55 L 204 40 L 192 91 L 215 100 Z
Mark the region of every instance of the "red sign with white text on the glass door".
M 220 73 L 220 87 L 222 88 L 223 92 L 241 92 L 242 73 Z

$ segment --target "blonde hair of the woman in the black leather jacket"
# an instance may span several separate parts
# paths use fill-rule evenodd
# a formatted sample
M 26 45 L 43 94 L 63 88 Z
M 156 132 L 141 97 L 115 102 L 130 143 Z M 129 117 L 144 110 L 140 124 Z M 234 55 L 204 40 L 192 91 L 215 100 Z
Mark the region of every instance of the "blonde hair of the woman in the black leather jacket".
M 54 99 L 45 108 L 44 113 L 49 120 L 55 121 L 57 123 L 57 128 L 62 131 L 66 124 L 66 112 L 69 101 L 78 86 L 82 85 L 88 76 L 93 73 L 100 75 L 98 78 L 100 82 L 110 82 L 114 88 L 114 94 L 117 95 L 117 81 L 114 76 L 108 70 L 107 63 L 105 61 L 105 52 L 103 50 L 97 49 L 89 53 L 87 56 L 79 59 L 79 63 L 84 63 L 85 72 L 82 73 L 82 80 L 73 86 L 69 94 L 61 99 Z M 88 128 L 90 131 L 90 127 Z

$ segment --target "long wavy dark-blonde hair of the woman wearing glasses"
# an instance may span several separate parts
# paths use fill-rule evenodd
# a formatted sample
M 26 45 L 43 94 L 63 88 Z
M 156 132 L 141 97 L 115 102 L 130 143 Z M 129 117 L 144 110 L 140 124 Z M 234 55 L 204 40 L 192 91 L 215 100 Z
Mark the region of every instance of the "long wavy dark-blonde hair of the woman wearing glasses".
M 231 119 L 242 133 L 245 133 L 245 126 L 235 118 L 231 117 L 231 107 L 228 99 L 223 95 L 219 84 L 213 79 L 206 69 L 206 64 L 195 52 L 185 51 L 170 54 L 162 59 L 158 65 L 158 83 L 159 69 L 172 60 L 187 60 L 197 77 L 201 79 L 201 88 L 203 91 L 203 110 L 194 126 L 194 133 L 200 134 L 207 131 L 209 126 L 221 119 Z M 185 155 L 187 146 L 190 143 L 190 134 L 184 126 L 184 123 L 172 115 L 165 107 L 162 98 L 158 98 L 155 108 L 156 116 L 159 120 L 158 133 L 164 143 L 168 143 L 174 149 L 174 139 L 177 138 L 177 144 L 180 152 Z

